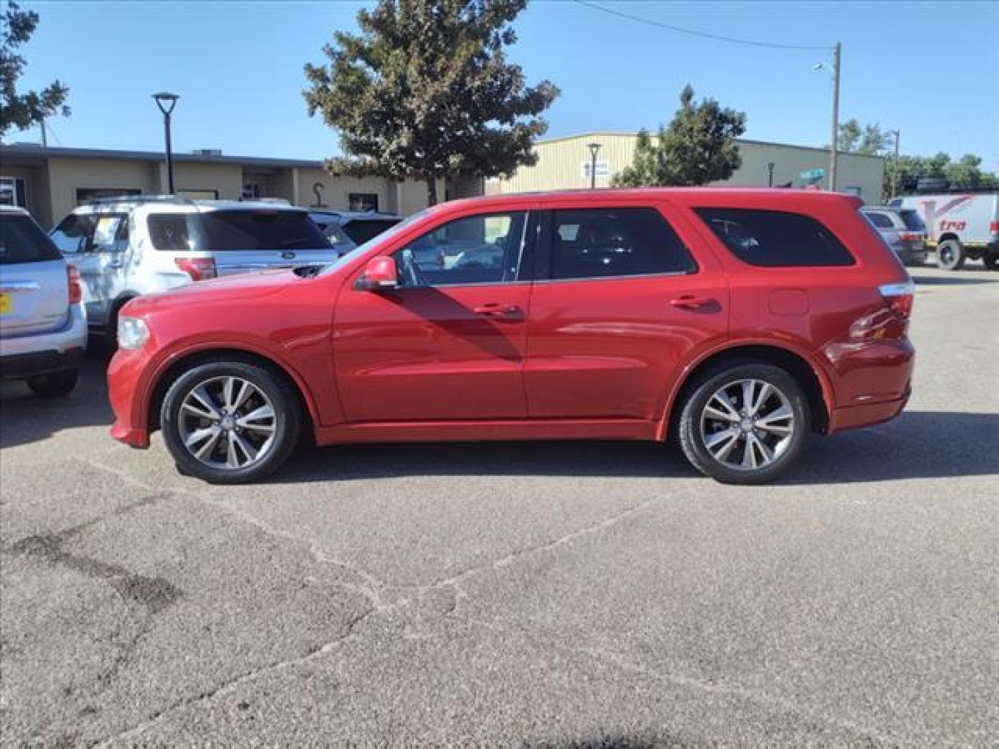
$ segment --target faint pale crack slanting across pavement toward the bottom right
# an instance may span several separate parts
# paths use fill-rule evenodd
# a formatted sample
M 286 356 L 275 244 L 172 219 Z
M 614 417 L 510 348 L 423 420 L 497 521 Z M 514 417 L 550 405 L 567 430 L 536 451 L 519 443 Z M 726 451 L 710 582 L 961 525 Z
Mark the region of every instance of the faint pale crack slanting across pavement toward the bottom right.
M 709 682 L 702 679 L 695 678 L 693 676 L 685 676 L 683 674 L 675 673 L 663 673 L 655 669 L 647 668 L 638 663 L 634 663 L 617 653 L 611 652 L 609 650 L 603 650 L 601 648 L 588 648 L 588 647 L 578 647 L 572 645 L 565 645 L 553 640 L 546 638 L 541 638 L 533 632 L 523 629 L 523 628 L 510 628 L 503 627 L 498 624 L 494 624 L 487 621 L 482 621 L 481 619 L 474 619 L 469 616 L 458 616 L 458 619 L 468 622 L 469 624 L 474 624 L 477 626 L 484 627 L 485 629 L 492 630 L 494 632 L 499 632 L 500 634 L 506 635 L 519 635 L 526 637 L 535 645 L 540 647 L 548 648 L 550 650 L 560 650 L 566 653 L 575 653 L 578 655 L 585 655 L 593 660 L 600 663 L 614 666 L 615 668 L 626 671 L 628 673 L 638 674 L 640 676 L 645 676 L 662 683 L 671 684 L 674 686 L 688 687 L 697 691 L 706 692 L 708 694 L 720 694 L 728 697 L 738 697 L 744 699 L 748 702 L 753 702 L 757 705 L 763 705 L 770 709 L 779 709 L 786 712 L 793 713 L 802 718 L 808 718 L 812 721 L 819 723 L 824 723 L 828 726 L 832 726 L 840 731 L 846 731 L 848 733 L 858 736 L 860 739 L 868 743 L 877 742 L 885 746 L 897 746 L 898 740 L 896 738 L 891 738 L 885 736 L 878 731 L 865 726 L 860 726 L 853 721 L 847 720 L 845 718 L 839 718 L 833 715 L 826 715 L 819 712 L 813 708 L 804 707 L 802 705 L 793 702 L 785 697 L 777 697 L 772 694 L 767 694 L 765 692 L 760 692 L 752 689 L 747 689 L 739 684 L 724 684 L 720 682 Z

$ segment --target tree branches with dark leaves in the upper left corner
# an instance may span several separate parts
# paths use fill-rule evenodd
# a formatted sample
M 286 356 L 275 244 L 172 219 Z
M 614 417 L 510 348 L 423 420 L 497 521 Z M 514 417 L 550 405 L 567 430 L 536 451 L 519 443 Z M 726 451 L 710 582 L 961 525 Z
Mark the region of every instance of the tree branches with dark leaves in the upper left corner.
M 21 10 L 17 3 L 4 2 L 0 11 L 0 138 L 12 128 L 27 130 L 53 115 L 69 115 L 64 102 L 69 89 L 53 81 L 42 91 L 17 93 L 17 79 L 26 65 L 18 48 L 27 42 L 38 26 L 38 14 Z

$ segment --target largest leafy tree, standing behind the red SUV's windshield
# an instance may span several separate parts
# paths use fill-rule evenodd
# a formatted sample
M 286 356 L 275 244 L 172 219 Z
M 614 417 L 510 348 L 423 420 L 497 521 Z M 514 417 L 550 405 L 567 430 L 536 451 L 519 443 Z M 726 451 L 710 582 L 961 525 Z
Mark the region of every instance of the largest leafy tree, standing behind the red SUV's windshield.
M 536 163 L 540 115 L 558 95 L 528 87 L 506 61 L 510 24 L 526 0 L 380 0 L 358 13 L 360 34 L 336 32 L 326 65 L 306 65 L 310 116 L 338 131 L 334 174 L 427 183 L 506 177 Z

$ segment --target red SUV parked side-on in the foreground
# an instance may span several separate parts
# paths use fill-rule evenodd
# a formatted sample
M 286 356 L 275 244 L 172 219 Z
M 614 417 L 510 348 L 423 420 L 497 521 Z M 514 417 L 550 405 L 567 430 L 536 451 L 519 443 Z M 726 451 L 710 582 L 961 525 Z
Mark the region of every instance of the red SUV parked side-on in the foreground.
M 909 397 L 913 287 L 859 212 L 805 191 L 512 195 L 425 211 L 326 267 L 122 311 L 109 371 L 135 447 L 260 478 L 318 444 L 675 438 L 769 480 L 806 433 Z

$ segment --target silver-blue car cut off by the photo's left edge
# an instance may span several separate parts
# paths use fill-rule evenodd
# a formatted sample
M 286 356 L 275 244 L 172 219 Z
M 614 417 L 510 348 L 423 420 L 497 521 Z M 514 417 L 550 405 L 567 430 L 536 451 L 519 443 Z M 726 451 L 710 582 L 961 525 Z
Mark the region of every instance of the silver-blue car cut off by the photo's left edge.
M 0 377 L 67 395 L 86 346 L 76 269 L 27 211 L 0 206 Z

